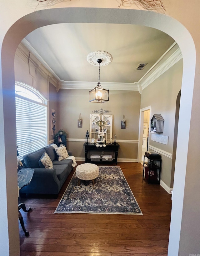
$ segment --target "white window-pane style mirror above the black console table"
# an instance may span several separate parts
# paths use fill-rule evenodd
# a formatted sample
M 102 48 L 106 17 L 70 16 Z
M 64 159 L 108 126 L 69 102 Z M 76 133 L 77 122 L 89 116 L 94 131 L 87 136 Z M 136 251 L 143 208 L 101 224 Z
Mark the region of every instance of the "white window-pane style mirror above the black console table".
M 101 136 L 100 136 L 100 135 Z M 110 114 L 90 114 L 90 137 L 98 141 L 108 142 L 113 136 L 113 115 Z

